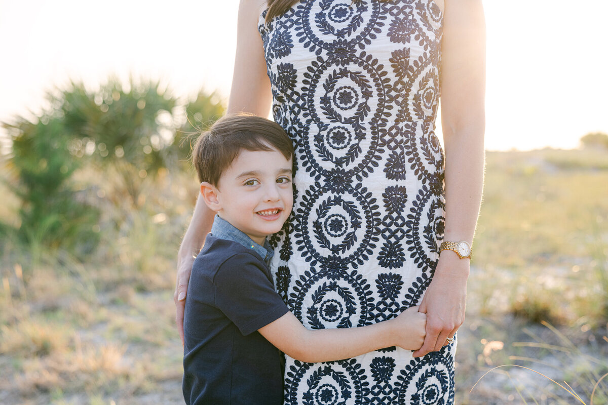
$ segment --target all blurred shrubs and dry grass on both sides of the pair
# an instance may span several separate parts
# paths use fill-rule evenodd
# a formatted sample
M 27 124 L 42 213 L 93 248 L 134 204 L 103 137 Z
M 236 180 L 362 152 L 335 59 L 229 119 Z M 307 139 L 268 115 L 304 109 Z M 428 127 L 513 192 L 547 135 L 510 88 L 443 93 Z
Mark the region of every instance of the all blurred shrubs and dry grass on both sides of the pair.
M 223 101 L 114 78 L 48 100 L 36 120 L 2 124 L 0 403 L 182 403 L 172 297 L 198 194 L 188 156 Z M 571 403 L 520 370 L 468 393 L 508 363 L 589 399 L 608 359 L 606 184 L 602 148 L 488 152 L 458 403 L 513 403 L 525 390 L 524 403 Z

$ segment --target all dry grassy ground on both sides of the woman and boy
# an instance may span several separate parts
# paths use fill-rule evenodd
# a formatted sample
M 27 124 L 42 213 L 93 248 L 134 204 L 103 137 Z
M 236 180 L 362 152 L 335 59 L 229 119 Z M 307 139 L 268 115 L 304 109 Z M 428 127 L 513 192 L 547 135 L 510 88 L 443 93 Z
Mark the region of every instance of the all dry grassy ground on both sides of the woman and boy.
M 519 370 L 491 373 L 468 393 L 491 367 L 537 366 L 517 358 L 549 364 L 539 368 L 557 369 L 587 396 L 594 374 L 577 376 L 601 369 L 572 359 L 606 363 L 608 199 L 601 185 L 608 184 L 608 157 L 587 153 L 488 154 L 468 315 L 458 335 L 458 404 L 519 403 L 518 389 L 526 398 L 536 390 L 537 403 L 564 403 Z M 161 172 L 144 184 L 137 208 L 105 177 L 87 171 L 75 179 L 89 184 L 89 202 L 102 209 L 100 244 L 86 263 L 11 237 L 0 242 L 0 403 L 182 401 L 174 260 L 195 202 L 195 177 Z M 10 222 L 15 206 L 5 207 L 0 219 Z M 550 348 L 564 342 L 531 321 L 570 330 L 581 352 L 568 347 L 572 357 L 559 357 Z

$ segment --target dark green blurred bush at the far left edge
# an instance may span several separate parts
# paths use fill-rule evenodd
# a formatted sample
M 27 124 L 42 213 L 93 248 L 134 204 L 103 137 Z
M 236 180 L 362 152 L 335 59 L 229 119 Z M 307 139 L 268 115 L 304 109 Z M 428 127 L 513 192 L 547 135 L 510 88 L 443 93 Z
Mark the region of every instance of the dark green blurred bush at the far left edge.
M 32 123 L 19 117 L 4 124 L 13 139 L 13 154 L 7 165 L 13 181 L 11 191 L 21 200 L 16 234 L 37 253 L 41 245 L 90 253 L 98 235 L 93 231 L 98 210 L 86 203 L 74 188 L 71 177 L 80 162 L 68 151 L 71 141 L 60 120 Z M 7 225 L 3 226 L 9 231 Z

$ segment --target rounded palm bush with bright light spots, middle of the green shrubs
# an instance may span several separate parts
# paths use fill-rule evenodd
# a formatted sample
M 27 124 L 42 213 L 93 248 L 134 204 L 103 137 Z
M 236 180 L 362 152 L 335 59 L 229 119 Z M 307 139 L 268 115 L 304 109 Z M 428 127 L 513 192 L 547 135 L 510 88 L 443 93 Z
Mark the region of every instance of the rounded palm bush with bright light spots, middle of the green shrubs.
M 111 78 L 99 90 L 82 83 L 51 97 L 52 114 L 71 134 L 70 150 L 90 157 L 98 166 L 117 172 L 122 188 L 139 205 L 142 183 L 167 167 L 174 137 L 173 109 L 177 99 L 159 81 L 123 85 Z

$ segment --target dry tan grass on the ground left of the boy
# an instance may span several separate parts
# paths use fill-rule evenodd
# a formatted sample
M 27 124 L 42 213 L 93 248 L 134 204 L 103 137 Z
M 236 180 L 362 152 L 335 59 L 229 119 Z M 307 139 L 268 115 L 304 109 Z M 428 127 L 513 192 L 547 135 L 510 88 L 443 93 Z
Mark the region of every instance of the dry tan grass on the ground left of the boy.
M 0 403 L 137 403 L 164 381 L 181 398 L 173 269 L 192 196 L 166 176 L 137 210 L 92 189 L 103 218 L 88 262 L 0 244 Z

